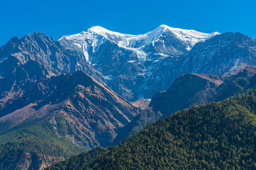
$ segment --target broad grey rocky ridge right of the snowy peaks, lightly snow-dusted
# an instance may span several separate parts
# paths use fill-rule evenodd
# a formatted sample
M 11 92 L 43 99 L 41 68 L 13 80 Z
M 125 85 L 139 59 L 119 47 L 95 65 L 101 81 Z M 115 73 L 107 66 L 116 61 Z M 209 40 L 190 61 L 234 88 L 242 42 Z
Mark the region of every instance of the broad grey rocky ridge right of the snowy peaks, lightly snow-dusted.
M 241 33 L 227 32 L 197 43 L 180 60 L 183 72 L 235 74 L 248 65 L 256 66 L 256 40 Z

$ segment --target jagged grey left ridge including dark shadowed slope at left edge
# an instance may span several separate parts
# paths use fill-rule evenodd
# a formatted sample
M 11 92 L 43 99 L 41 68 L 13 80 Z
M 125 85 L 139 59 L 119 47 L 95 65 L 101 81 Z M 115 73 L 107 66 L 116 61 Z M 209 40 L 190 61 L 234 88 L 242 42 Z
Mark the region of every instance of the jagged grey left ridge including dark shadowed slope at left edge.
M 41 32 L 34 32 L 20 39 L 13 37 L 6 45 L 1 46 L 0 81 L 6 87 L 1 85 L 0 89 L 5 88 L 3 90 L 10 90 L 12 86 L 15 89 L 15 87 L 19 86 L 21 80 L 31 79 L 26 74 L 25 69 L 36 72 L 38 66 L 34 66 L 36 65 L 35 61 L 40 64 L 40 67 L 44 67 L 40 78 L 82 70 L 86 71 L 86 73 L 93 76 L 99 82 L 103 82 L 102 80 L 104 79 L 99 71 L 96 71 L 90 64 L 84 62 L 81 53 L 65 50 L 60 43 L 54 41 L 52 38 Z M 34 70 L 32 71 L 32 69 Z M 22 74 L 19 75 L 22 77 L 19 78 L 17 74 Z M 16 82 L 14 83 L 14 81 Z

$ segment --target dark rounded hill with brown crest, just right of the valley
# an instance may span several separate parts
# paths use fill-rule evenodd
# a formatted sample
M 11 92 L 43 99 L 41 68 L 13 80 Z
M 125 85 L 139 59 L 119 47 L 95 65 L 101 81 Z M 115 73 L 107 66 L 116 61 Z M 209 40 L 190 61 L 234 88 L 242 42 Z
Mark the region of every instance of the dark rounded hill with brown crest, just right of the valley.
M 164 115 L 170 115 L 193 104 L 205 103 L 213 94 L 216 94 L 214 89 L 221 83 L 223 80 L 219 76 L 182 74 L 173 81 L 166 92 L 157 93 L 152 98 L 150 106 L 154 106 L 154 110 L 159 110 Z

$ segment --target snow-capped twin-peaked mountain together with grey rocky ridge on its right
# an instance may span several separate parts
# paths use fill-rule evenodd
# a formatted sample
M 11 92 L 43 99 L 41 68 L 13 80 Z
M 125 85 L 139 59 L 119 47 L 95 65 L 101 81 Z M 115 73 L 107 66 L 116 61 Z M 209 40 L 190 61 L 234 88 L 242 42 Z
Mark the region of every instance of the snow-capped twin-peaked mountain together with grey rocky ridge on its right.
M 59 42 L 83 53 L 106 84 L 129 101 L 152 98 L 181 74 L 228 76 L 256 64 L 256 41 L 241 33 L 205 34 L 160 25 L 129 35 L 92 27 Z

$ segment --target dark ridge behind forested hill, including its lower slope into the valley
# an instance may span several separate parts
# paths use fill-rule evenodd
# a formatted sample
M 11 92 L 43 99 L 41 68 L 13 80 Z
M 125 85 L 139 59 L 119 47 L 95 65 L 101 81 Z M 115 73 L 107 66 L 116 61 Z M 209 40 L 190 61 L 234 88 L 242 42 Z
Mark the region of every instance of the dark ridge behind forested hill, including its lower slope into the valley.
M 175 111 L 191 108 L 198 104 L 221 101 L 256 86 L 256 67 L 246 66 L 230 76 L 188 73 L 176 78 L 170 88 L 157 92 L 149 108 L 141 111 L 132 121 L 118 129 L 114 143 L 118 144 L 148 124 L 167 117 Z

